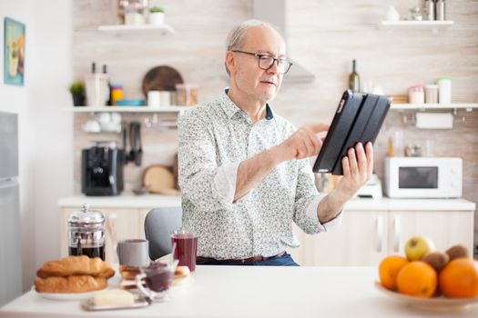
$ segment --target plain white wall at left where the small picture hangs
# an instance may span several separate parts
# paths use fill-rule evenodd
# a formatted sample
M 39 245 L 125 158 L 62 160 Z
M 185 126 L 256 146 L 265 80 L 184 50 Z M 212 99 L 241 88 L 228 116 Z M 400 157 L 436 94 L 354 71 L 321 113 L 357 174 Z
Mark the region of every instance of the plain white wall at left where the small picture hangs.
M 4 84 L 4 18 L 25 23 L 25 85 Z M 58 257 L 58 197 L 72 193 L 71 1 L 0 2 L 0 111 L 18 114 L 24 288 Z

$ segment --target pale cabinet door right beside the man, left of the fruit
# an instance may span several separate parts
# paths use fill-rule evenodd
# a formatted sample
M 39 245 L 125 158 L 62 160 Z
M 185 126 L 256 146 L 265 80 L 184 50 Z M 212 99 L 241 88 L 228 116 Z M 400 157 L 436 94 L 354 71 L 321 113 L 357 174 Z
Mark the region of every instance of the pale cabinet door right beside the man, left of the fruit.
M 346 211 L 342 224 L 329 232 L 304 234 L 302 265 L 377 265 L 387 255 L 386 212 Z

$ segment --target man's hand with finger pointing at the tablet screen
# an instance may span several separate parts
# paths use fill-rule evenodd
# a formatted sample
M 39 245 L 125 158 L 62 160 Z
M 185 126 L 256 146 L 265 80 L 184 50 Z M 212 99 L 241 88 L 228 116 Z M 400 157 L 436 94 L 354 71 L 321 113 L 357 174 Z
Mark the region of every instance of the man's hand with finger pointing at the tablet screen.
M 283 161 L 302 159 L 319 154 L 323 138 L 317 134 L 327 132 L 329 124 L 308 124 L 292 134 L 286 141 L 278 145 L 278 153 Z

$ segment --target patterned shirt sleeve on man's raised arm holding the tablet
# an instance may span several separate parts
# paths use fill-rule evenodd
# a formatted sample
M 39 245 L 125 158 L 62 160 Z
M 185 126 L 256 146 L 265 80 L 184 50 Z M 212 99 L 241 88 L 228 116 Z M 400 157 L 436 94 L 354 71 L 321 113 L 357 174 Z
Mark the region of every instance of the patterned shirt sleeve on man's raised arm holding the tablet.
M 300 159 L 297 164 L 299 166 L 293 216 L 295 224 L 307 234 L 318 234 L 328 231 L 332 226 L 340 225 L 342 212 L 329 222 L 320 223 L 317 211 L 326 194 L 319 194 L 315 187 L 309 159 Z

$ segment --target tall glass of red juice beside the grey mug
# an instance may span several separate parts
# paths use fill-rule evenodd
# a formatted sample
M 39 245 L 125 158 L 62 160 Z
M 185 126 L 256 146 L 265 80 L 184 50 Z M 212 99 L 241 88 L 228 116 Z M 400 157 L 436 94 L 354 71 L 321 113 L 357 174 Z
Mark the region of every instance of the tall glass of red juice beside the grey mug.
M 198 235 L 187 232 L 171 234 L 171 244 L 174 248 L 173 258 L 178 260 L 179 266 L 188 266 L 189 271 L 196 269 L 196 255 L 198 252 Z

